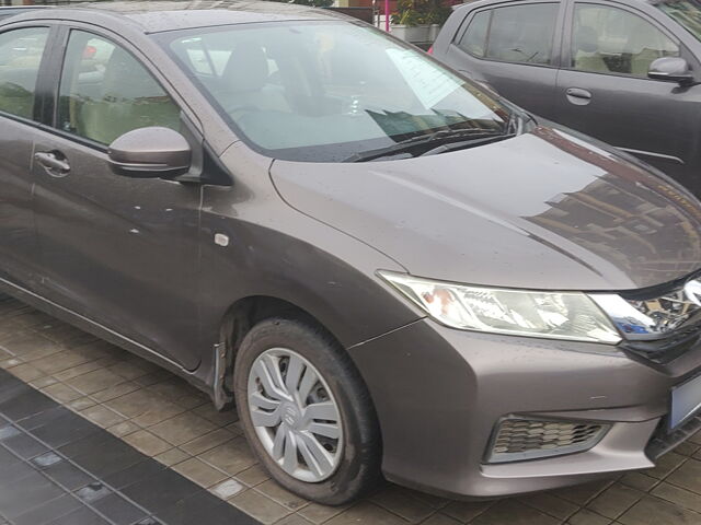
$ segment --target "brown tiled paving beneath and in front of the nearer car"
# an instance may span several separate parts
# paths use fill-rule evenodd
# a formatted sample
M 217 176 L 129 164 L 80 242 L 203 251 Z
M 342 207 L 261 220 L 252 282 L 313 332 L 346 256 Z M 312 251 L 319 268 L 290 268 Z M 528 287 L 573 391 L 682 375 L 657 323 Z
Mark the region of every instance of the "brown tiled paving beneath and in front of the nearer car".
M 106 429 L 118 438 L 114 442 L 168 467 L 162 471 L 181 474 L 265 524 L 701 525 L 699 434 L 664 456 L 657 468 L 606 482 L 484 503 L 447 501 L 386 485 L 366 501 L 332 509 L 303 501 L 269 480 L 251 455 L 235 415 L 217 413 L 207 397 L 184 381 L 12 300 L 0 300 L 0 368 Z M 0 389 L 8 381 L 0 375 Z M 5 439 L 0 433 L 0 512 L 1 476 L 13 462 L 1 453 L 8 447 Z M 24 453 L 30 462 L 45 453 Z M 112 487 L 108 480 L 95 482 Z M 203 516 L 199 522 L 209 525 L 211 520 Z

